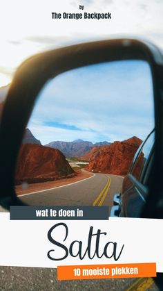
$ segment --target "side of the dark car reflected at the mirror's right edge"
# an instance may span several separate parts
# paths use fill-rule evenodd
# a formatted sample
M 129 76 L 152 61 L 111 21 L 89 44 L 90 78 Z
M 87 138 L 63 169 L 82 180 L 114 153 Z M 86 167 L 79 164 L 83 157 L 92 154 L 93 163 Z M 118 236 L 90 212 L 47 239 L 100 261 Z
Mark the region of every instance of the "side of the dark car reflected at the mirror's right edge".
M 124 177 L 122 193 L 113 198 L 111 216 L 140 217 L 150 185 L 153 170 L 155 131 L 147 136 L 135 153 L 131 168 Z

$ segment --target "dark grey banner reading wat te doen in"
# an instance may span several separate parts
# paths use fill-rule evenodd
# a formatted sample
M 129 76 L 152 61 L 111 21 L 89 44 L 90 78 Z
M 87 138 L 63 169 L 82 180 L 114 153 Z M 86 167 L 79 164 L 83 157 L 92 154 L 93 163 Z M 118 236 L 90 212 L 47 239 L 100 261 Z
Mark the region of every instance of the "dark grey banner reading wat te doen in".
M 108 206 L 10 206 L 11 220 L 108 220 Z

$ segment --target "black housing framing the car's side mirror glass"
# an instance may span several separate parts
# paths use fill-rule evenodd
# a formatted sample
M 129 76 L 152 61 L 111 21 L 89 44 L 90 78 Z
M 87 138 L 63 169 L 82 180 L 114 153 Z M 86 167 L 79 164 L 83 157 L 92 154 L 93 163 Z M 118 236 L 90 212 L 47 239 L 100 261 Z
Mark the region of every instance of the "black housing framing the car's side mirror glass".
M 163 217 L 163 108 L 162 108 L 162 53 L 153 44 L 139 40 L 119 39 L 77 44 L 39 53 L 26 60 L 13 78 L 3 108 L 0 126 L 0 202 L 23 205 L 15 194 L 15 168 L 23 133 L 46 81 L 70 69 L 112 60 L 146 60 L 151 67 L 155 103 L 155 160 L 153 183 L 144 217 Z M 155 183 L 154 183 L 155 181 Z M 155 193 L 155 195 L 153 195 Z M 155 205 L 155 207 L 151 207 Z

